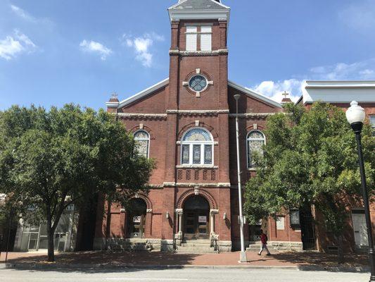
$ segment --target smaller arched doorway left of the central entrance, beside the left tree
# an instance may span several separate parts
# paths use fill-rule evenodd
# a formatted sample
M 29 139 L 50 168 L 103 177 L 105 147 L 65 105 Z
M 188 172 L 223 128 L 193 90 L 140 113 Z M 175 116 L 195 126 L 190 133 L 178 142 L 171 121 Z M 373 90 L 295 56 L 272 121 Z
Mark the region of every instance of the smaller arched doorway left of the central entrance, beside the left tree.
M 132 199 L 127 212 L 127 235 L 129 238 L 144 238 L 147 204 L 141 199 Z

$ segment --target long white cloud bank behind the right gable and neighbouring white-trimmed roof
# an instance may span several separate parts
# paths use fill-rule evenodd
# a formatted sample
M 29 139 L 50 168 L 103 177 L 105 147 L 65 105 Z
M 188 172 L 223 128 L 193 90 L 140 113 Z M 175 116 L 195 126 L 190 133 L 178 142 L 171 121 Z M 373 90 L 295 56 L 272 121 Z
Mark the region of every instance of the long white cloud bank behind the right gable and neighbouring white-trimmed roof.
M 263 81 L 252 89 L 277 102 L 281 102 L 286 91 L 291 94 L 291 99 L 295 102 L 302 95 L 301 87 L 304 80 L 375 80 L 375 59 L 317 66 L 310 68 L 305 75 L 299 75 L 298 79 Z

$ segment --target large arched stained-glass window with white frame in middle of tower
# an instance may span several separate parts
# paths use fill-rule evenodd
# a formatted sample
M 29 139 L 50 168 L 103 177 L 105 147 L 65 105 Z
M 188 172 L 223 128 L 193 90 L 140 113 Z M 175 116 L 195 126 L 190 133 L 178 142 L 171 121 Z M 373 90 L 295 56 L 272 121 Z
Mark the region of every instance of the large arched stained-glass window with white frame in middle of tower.
M 192 128 L 182 137 L 182 165 L 212 165 L 214 142 L 210 132 L 204 128 Z

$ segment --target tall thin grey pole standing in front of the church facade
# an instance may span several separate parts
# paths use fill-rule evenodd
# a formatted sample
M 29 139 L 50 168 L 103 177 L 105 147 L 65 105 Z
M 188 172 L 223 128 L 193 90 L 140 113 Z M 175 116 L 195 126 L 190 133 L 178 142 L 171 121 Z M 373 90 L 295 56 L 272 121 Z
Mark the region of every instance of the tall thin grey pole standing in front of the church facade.
M 241 253 L 240 262 L 248 262 L 245 251 L 245 239 L 243 238 L 243 214 L 242 214 L 242 192 L 241 192 L 241 165 L 240 165 L 240 148 L 239 148 L 239 99 L 241 95 L 234 95 L 236 100 L 236 145 L 237 145 L 237 176 L 239 181 L 239 217 L 240 217 L 240 238 Z

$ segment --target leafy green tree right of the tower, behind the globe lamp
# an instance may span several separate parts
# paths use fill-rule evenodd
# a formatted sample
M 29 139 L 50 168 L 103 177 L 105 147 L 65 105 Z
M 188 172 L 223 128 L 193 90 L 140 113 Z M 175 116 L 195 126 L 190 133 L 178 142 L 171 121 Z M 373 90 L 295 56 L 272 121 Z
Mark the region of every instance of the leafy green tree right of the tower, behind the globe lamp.
M 251 223 L 289 209 L 314 205 L 327 231 L 342 238 L 350 200 L 361 200 L 355 135 L 341 109 L 313 104 L 310 110 L 286 105 L 286 114 L 267 119 L 267 145 L 258 156 L 257 176 L 246 185 L 245 212 Z M 362 133 L 370 195 L 374 192 L 375 138 Z

